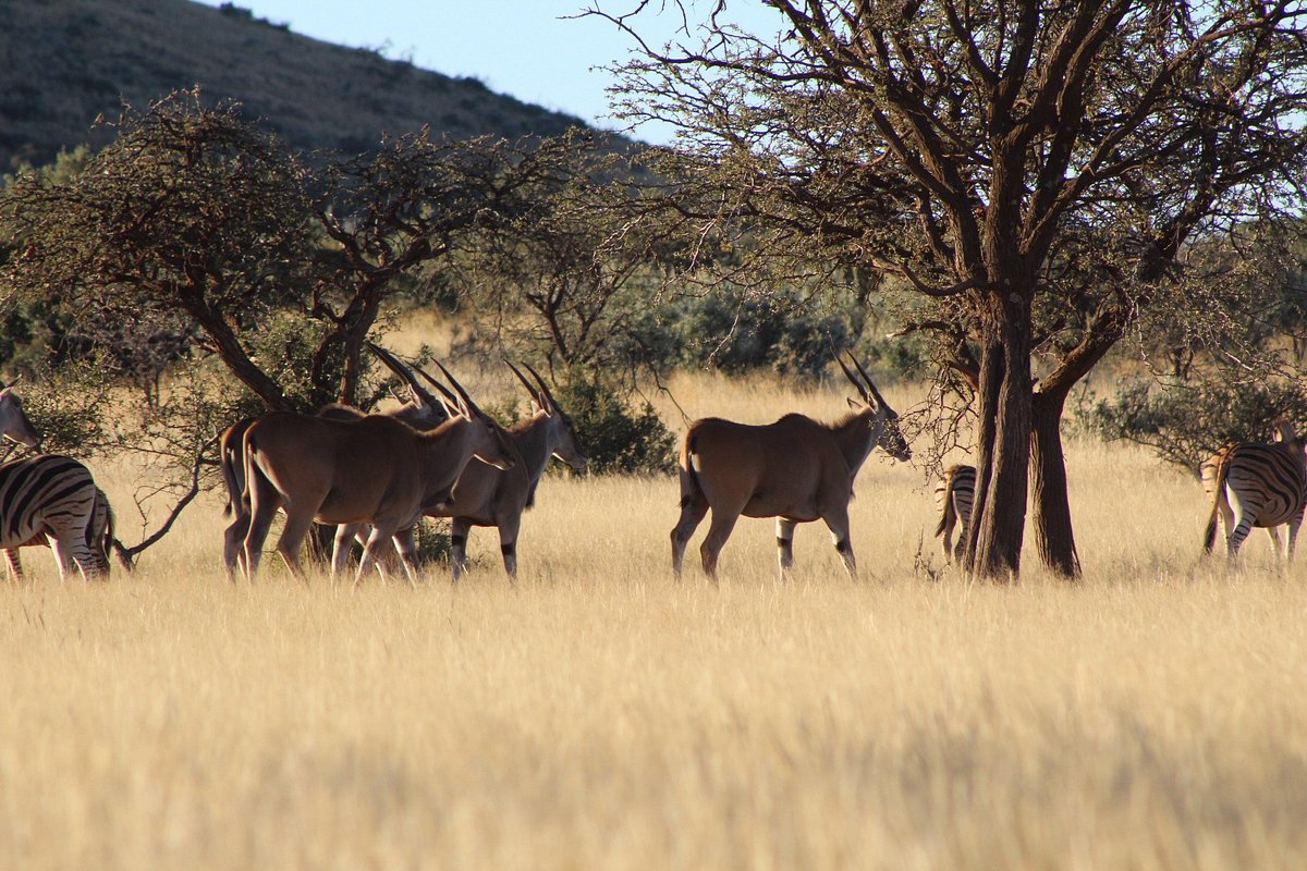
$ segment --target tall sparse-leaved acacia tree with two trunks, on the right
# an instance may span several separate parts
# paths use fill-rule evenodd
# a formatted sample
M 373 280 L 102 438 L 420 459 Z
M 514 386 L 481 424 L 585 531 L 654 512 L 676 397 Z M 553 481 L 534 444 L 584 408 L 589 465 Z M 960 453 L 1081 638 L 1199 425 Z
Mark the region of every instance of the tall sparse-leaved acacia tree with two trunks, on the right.
M 639 40 L 651 4 L 620 5 L 591 12 Z M 774 33 L 677 5 L 621 89 L 680 131 L 659 204 L 759 264 L 894 277 L 974 390 L 971 571 L 1018 571 L 1033 486 L 1044 562 L 1078 573 L 1068 392 L 1175 299 L 1187 244 L 1300 202 L 1307 5 L 766 0 Z

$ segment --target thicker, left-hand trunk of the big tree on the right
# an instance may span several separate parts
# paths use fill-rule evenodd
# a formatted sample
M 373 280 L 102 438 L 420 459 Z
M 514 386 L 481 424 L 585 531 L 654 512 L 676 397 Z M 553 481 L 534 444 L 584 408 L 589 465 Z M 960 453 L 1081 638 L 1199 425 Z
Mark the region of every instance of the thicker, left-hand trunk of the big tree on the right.
M 1021 569 L 1030 464 L 1030 306 L 1012 290 L 989 296 L 980 360 L 972 577 L 1010 580 Z

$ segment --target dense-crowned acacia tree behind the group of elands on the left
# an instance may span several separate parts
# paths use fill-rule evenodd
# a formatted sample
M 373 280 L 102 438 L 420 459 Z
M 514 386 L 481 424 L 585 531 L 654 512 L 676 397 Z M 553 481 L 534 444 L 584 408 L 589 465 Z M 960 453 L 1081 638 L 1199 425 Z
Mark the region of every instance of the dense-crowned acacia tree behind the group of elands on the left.
M 93 325 L 180 324 L 188 350 L 214 354 L 269 409 L 353 404 L 383 307 L 473 234 L 532 210 L 575 148 L 422 131 L 303 158 L 239 104 L 180 91 L 128 108 L 73 178 L 27 175 L 4 192 L 18 242 L 0 289 L 59 299 Z M 284 316 L 312 345 L 294 392 L 259 353 Z

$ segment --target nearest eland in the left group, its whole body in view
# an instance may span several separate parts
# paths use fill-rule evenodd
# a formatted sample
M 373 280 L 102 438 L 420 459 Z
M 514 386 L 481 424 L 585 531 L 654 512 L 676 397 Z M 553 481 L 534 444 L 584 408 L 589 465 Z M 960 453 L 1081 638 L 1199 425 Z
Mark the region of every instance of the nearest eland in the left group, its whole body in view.
M 286 525 L 277 551 L 301 578 L 299 546 L 315 520 L 371 524 L 357 584 L 371 571 L 384 542 L 417 522 L 423 509 L 448 498 L 473 457 L 501 469 L 516 465 L 514 448 L 498 424 L 448 370 L 437 366 L 457 392 L 457 401 L 454 417 L 427 432 L 380 414 L 341 420 L 290 411 L 274 411 L 246 428 L 248 580 L 259 571 L 263 542 L 278 508 L 286 512 Z M 404 569 L 416 582 L 417 565 L 405 560 Z

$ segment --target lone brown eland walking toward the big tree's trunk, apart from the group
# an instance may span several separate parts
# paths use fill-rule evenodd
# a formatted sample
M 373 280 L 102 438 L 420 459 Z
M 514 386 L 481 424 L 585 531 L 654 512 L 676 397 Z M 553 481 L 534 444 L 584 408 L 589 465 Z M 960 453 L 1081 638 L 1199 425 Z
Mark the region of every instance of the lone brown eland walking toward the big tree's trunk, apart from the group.
M 720 418 L 690 426 L 680 457 L 681 518 L 672 529 L 677 577 L 685 546 L 710 508 L 712 522 L 699 548 L 710 577 L 716 577 L 718 555 L 741 515 L 776 518 L 782 578 L 793 564 L 795 525 L 818 518 L 830 529 L 848 573 L 857 576 L 848 537 L 853 478 L 877 445 L 895 460 L 907 460 L 912 452 L 899 431 L 898 414 L 867 370 L 853 359 L 859 380 L 843 360 L 836 362 L 861 397 L 848 400 L 853 410 L 838 423 L 787 414 L 766 426 Z

